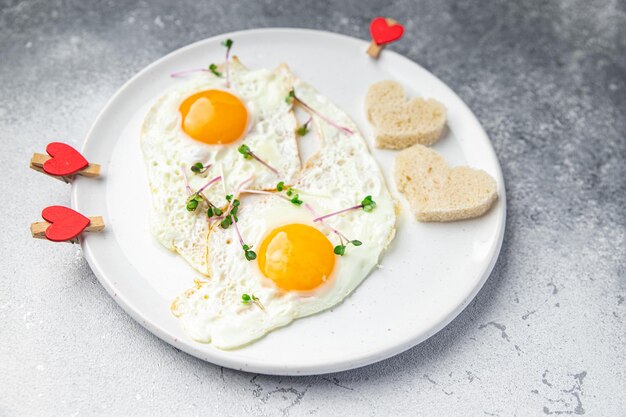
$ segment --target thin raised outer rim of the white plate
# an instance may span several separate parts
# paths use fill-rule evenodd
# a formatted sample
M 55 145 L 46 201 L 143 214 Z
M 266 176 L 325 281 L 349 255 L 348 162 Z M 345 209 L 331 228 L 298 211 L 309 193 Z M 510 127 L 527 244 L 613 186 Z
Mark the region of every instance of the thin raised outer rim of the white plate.
M 137 79 L 139 79 L 140 77 L 142 77 L 145 73 L 148 73 L 153 67 L 158 66 L 161 62 L 166 61 L 167 59 L 170 58 L 170 56 L 174 55 L 174 54 L 178 54 L 181 53 L 187 49 L 192 49 L 197 47 L 198 45 L 207 43 L 207 42 L 211 42 L 211 41 L 215 41 L 216 39 L 221 39 L 224 36 L 234 36 L 234 35 L 254 35 L 254 34 L 261 34 L 261 33 L 289 33 L 289 32 L 299 32 L 299 33 L 304 33 L 304 34 L 308 34 L 308 35 L 325 35 L 325 36 L 331 36 L 331 37 L 336 37 L 338 39 L 341 39 L 343 41 L 349 41 L 349 42 L 357 42 L 357 43 L 363 43 L 363 44 L 367 44 L 367 41 L 360 39 L 360 38 L 356 38 L 353 36 L 349 36 L 349 35 L 344 35 L 341 33 L 335 33 L 335 32 L 330 32 L 327 30 L 318 30 L 318 29 L 307 29 L 307 28 L 291 28 L 291 27 L 267 27 L 267 28 L 257 28 L 257 29 L 245 29 L 245 30 L 239 30 L 239 31 L 234 31 L 234 32 L 227 32 L 227 33 L 221 33 L 221 34 L 217 34 L 215 36 L 211 36 L 205 39 L 201 39 L 195 42 L 192 42 L 188 45 L 182 46 L 180 48 L 177 48 L 169 53 L 167 53 L 166 55 L 160 57 L 159 59 L 151 62 L 150 64 L 148 64 L 147 66 L 143 67 L 139 72 L 137 72 L 135 75 L 133 75 L 130 79 L 128 79 L 124 84 L 122 84 L 121 87 L 119 87 L 116 92 L 109 98 L 109 100 L 107 100 L 107 102 L 105 103 L 105 105 L 103 106 L 103 108 L 100 110 L 100 112 L 98 113 L 97 117 L 93 120 L 93 122 L 90 125 L 89 130 L 87 131 L 87 134 L 85 135 L 85 138 L 83 140 L 82 146 L 81 146 L 81 152 L 85 152 L 86 148 L 89 145 L 90 142 L 90 138 L 92 138 L 93 133 L 95 131 L 95 127 L 98 124 L 98 122 L 100 121 L 100 119 L 102 119 L 105 114 L 109 111 L 109 107 L 111 106 L 111 104 L 117 99 L 118 96 L 120 96 L 124 90 L 126 90 L 131 84 L 133 84 Z M 365 53 L 365 52 L 364 52 Z M 499 187 L 501 189 L 498 189 L 498 199 L 500 200 L 500 204 L 502 205 L 502 214 L 501 214 L 501 218 L 498 219 L 498 225 L 499 230 L 498 230 L 498 234 L 496 237 L 496 242 L 495 242 L 495 251 L 493 256 L 490 259 L 489 264 L 487 265 L 487 267 L 484 269 L 482 276 L 480 277 L 480 280 L 478 281 L 477 285 L 475 285 L 475 287 L 472 289 L 472 291 L 465 297 L 465 299 L 463 300 L 462 303 L 459 303 L 456 308 L 454 308 L 451 312 L 449 312 L 449 314 L 447 314 L 447 316 L 442 319 L 439 320 L 438 322 L 434 323 L 429 329 L 428 331 L 423 332 L 421 335 L 419 335 L 419 337 L 416 338 L 409 338 L 407 340 L 404 341 L 404 343 L 399 343 L 390 347 L 387 347 L 386 349 L 382 349 L 382 350 L 377 350 L 375 354 L 372 353 L 364 353 L 362 355 L 359 356 L 354 356 L 349 360 L 337 360 L 337 361 L 327 361 L 323 366 L 319 365 L 319 364 L 308 364 L 308 365 L 302 365 L 299 366 L 298 368 L 295 367 L 284 367 L 284 368 L 278 368 L 278 367 L 272 367 L 271 365 L 268 366 L 266 364 L 264 364 L 262 361 L 246 361 L 246 363 L 242 363 L 239 360 L 231 360 L 229 358 L 225 358 L 225 357 L 210 357 L 210 355 L 207 355 L 207 352 L 205 351 L 201 351 L 199 348 L 197 348 L 196 346 L 194 346 L 194 343 L 197 344 L 198 342 L 194 342 L 193 340 L 189 339 L 189 340 L 181 340 L 179 339 L 176 335 L 169 333 L 167 330 L 163 329 L 161 326 L 159 326 L 157 323 L 154 323 L 152 320 L 149 319 L 149 317 L 146 317 L 144 315 L 142 315 L 136 308 L 133 308 L 132 306 L 132 302 L 130 300 L 128 300 L 122 293 L 117 292 L 116 288 L 115 288 L 115 284 L 113 282 L 113 280 L 109 280 L 106 277 L 106 273 L 101 269 L 94 251 L 92 250 L 92 248 L 89 245 L 88 239 L 79 239 L 82 251 L 83 251 L 83 256 L 85 257 L 85 259 L 87 260 L 87 263 L 89 264 L 89 267 L 91 268 L 91 270 L 93 271 L 94 275 L 96 276 L 96 278 L 98 279 L 98 281 L 100 282 L 100 284 L 105 288 L 105 290 L 109 293 L 109 295 L 115 300 L 115 302 L 122 307 L 122 309 L 128 314 L 130 315 L 137 323 L 139 323 L 142 327 L 144 327 L 146 330 L 148 330 L 150 333 L 152 333 L 153 335 L 157 336 L 159 339 L 163 340 L 164 342 L 168 343 L 169 345 L 180 349 L 182 351 L 184 351 L 187 354 L 190 354 L 198 359 L 201 359 L 203 361 L 212 363 L 214 365 L 218 365 L 218 366 L 225 366 L 231 369 L 236 369 L 239 371 L 245 371 L 245 372 L 253 372 L 253 373 L 262 373 L 262 374 L 268 374 L 268 375 L 299 375 L 299 376 L 304 376 L 304 375 L 321 375 L 321 374 L 327 374 L 327 373 L 333 373 L 333 372 L 342 372 L 342 371 L 347 371 L 350 369 L 355 369 L 355 368 L 360 368 L 363 366 L 367 366 L 370 365 L 372 363 L 375 362 L 379 362 L 385 359 L 388 359 L 392 356 L 395 356 L 397 354 L 400 354 L 412 347 L 415 347 L 419 344 L 421 344 L 422 342 L 428 340 L 430 337 L 432 337 L 433 335 L 435 335 L 436 333 L 438 333 L 439 331 L 441 331 L 443 328 L 445 328 L 446 326 L 448 326 L 456 317 L 458 317 L 458 315 L 465 310 L 465 308 L 469 305 L 469 303 L 476 297 L 476 295 L 478 294 L 478 292 L 482 289 L 482 287 L 484 286 L 485 282 L 487 281 L 487 279 L 489 278 L 489 276 L 491 275 L 498 259 L 500 256 L 500 252 L 502 250 L 502 244 L 503 244 L 503 240 L 504 240 L 504 233 L 505 233 L 505 229 L 506 229 L 506 214 L 507 214 L 507 201 L 506 201 L 506 189 L 505 189 L 505 182 L 504 182 L 504 178 L 503 178 L 503 173 L 502 173 L 502 167 L 500 165 L 500 161 L 498 159 L 497 154 L 495 153 L 495 150 L 493 148 L 493 144 L 489 138 L 489 135 L 487 135 L 487 132 L 484 130 L 484 127 L 482 126 L 482 124 L 480 123 L 480 121 L 478 120 L 478 118 L 476 117 L 476 115 L 474 114 L 474 112 L 469 108 L 469 106 L 461 99 L 461 97 L 458 96 L 458 94 L 456 92 L 454 92 L 454 90 L 452 90 L 445 82 L 443 82 L 442 80 L 440 80 L 436 75 L 432 74 L 430 71 L 428 71 L 426 68 L 422 67 L 420 64 L 418 64 L 417 62 L 411 60 L 410 58 L 405 57 L 404 55 L 392 51 L 392 50 L 387 50 L 385 51 L 385 54 L 388 55 L 395 55 L 396 58 L 399 58 L 401 60 L 404 61 L 408 61 L 410 64 L 412 65 L 417 65 L 418 67 L 420 67 L 423 71 L 427 72 L 430 76 L 432 76 L 433 78 L 437 79 L 440 84 L 441 87 L 445 88 L 448 90 L 448 93 L 453 95 L 456 99 L 458 99 L 459 103 L 464 107 L 464 110 L 468 113 L 468 115 L 474 119 L 474 122 L 476 123 L 477 127 L 481 130 L 481 132 L 484 134 L 484 136 L 487 138 L 488 140 L 488 145 L 489 145 L 489 150 L 492 153 L 493 158 L 496 161 L 496 165 L 498 168 L 498 172 L 497 177 L 496 178 L 496 182 L 498 184 L 502 184 L 502 187 Z M 75 182 L 72 183 L 71 185 L 71 207 L 76 209 L 78 206 L 78 200 L 79 200 L 79 184 L 80 182 Z

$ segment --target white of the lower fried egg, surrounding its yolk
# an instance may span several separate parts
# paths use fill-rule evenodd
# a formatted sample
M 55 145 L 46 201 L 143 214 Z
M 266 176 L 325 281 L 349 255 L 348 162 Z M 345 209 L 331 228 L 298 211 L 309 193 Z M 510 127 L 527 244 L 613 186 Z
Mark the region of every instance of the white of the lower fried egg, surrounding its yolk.
M 347 135 L 313 118 L 319 150 L 293 183 L 300 198 L 320 215 L 354 206 L 366 195 L 371 195 L 377 206 L 370 213 L 354 210 L 326 221 L 363 245 L 349 246 L 345 256 L 337 256 L 332 276 L 309 292 L 280 290 L 261 274 L 256 261 L 246 261 L 233 227 L 212 229 L 208 239 L 210 278 L 174 300 L 172 312 L 193 339 L 220 349 L 241 347 L 296 318 L 337 305 L 365 279 L 395 233 L 393 199 L 356 125 L 313 87 L 295 77 L 293 83 L 298 97 L 355 132 Z M 295 206 L 277 196 L 245 195 L 240 207 L 237 224 L 253 249 L 273 229 L 291 223 L 316 227 L 333 246 L 339 244 L 329 227 L 313 222 L 314 216 L 304 205 Z M 258 297 L 263 308 L 243 304 L 244 293 Z

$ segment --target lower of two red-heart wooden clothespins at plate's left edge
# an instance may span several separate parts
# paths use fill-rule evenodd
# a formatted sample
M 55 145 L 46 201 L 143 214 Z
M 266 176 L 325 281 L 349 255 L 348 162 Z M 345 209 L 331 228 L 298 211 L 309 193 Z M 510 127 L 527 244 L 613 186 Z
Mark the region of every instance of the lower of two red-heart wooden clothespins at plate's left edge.
M 104 229 L 101 216 L 85 217 L 69 207 L 50 206 L 43 209 L 44 222 L 31 223 L 30 232 L 34 238 L 52 242 L 77 243 L 82 232 L 100 232 Z

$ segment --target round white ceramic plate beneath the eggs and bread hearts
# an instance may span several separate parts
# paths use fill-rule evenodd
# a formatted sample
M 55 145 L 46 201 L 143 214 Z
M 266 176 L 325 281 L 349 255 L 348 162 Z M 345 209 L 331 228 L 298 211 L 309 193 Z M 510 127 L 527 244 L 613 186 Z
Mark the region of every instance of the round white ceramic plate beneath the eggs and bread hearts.
M 174 71 L 223 59 L 226 38 L 250 68 L 287 62 L 304 80 L 346 110 L 371 140 L 363 111 L 370 84 L 402 83 L 408 94 L 434 97 L 448 110 L 449 129 L 434 148 L 455 164 L 490 173 L 500 198 L 485 216 L 448 224 L 417 223 L 403 203 L 398 232 L 364 283 L 341 305 L 270 333 L 234 351 L 190 339 L 170 313 L 170 303 L 197 274 L 162 248 L 148 230 L 150 195 L 139 148 L 139 128 L 150 103 Z M 127 82 L 92 126 L 84 155 L 102 164 L 99 180 L 77 178 L 72 206 L 103 215 L 104 233 L 81 241 L 94 273 L 112 297 L 149 331 L 194 356 L 234 369 L 282 375 L 320 374 L 363 366 L 400 353 L 448 324 L 489 276 L 502 244 L 505 190 L 489 138 L 476 117 L 443 82 L 387 48 L 379 60 L 367 42 L 328 32 L 261 29 L 220 35 L 179 49 Z M 371 146 L 370 146 L 371 147 Z M 373 147 L 371 147 L 373 149 Z M 395 152 L 373 149 L 392 192 Z

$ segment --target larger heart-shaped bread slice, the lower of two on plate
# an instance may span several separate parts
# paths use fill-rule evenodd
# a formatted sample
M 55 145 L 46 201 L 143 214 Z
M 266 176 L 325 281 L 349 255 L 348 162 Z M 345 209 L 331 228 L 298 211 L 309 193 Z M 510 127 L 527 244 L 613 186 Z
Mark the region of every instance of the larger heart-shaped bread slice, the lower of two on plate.
M 448 166 L 434 150 L 414 145 L 398 153 L 396 186 L 423 222 L 448 222 L 483 215 L 498 198 L 485 171 Z

